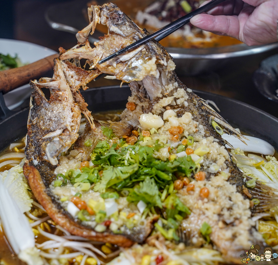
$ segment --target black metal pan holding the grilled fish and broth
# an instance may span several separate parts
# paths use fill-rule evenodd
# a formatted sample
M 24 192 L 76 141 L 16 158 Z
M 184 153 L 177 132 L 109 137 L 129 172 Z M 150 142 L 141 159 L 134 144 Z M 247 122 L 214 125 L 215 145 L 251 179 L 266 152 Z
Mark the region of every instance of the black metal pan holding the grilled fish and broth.
M 213 100 L 220 115 L 232 126 L 243 132 L 260 137 L 278 150 L 278 119 L 270 114 L 238 100 L 203 91 L 194 91 L 203 99 Z M 127 98 L 131 95 L 128 86 L 106 86 L 81 91 L 92 112 L 124 109 Z M 12 113 L 3 105 L 0 96 L 0 150 L 6 148 L 15 139 L 27 133 L 27 117 L 29 109 L 25 108 Z

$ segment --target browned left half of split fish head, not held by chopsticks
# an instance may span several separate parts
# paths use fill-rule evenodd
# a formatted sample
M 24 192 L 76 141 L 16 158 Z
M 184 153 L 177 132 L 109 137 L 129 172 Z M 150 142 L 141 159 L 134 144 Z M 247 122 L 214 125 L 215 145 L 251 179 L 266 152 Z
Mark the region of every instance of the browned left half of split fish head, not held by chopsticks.
M 68 150 L 78 137 L 81 111 L 58 59 L 55 59 L 53 78 L 34 80 L 30 85 L 34 92 L 28 116 L 26 157 L 34 164 L 45 160 L 57 165 L 58 155 Z M 43 88 L 50 90 L 49 99 Z

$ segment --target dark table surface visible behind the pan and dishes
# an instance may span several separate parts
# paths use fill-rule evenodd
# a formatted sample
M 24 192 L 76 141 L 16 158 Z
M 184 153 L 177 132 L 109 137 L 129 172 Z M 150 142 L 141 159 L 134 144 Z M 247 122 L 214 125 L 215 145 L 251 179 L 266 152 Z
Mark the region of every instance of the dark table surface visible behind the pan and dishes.
M 73 34 L 52 29 L 46 22 L 45 11 L 59 1 L 54 0 L 17 0 L 10 7 L 13 14 L 13 35 L 17 40 L 40 44 L 58 51 L 59 47 L 69 49 L 76 44 Z M 69 2 L 69 1 L 60 1 Z M 74 19 L 74 18 L 73 18 Z M 198 76 L 179 76 L 187 87 L 208 91 L 238 99 L 278 118 L 278 105 L 263 97 L 255 88 L 252 74 L 260 62 L 277 54 L 278 49 L 261 53 L 253 57 L 234 58 L 229 65 L 216 71 L 209 71 Z M 120 84 L 117 80 L 99 79 L 89 87 Z

